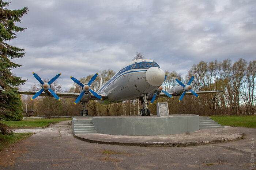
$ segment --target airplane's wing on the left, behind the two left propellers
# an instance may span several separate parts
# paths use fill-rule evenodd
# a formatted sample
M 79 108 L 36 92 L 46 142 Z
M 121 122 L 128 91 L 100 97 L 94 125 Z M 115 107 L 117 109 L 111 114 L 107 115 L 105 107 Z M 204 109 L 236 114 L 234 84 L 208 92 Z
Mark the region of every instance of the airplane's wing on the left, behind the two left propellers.
M 19 94 L 26 94 L 26 95 L 35 95 L 37 92 L 34 91 L 19 91 Z M 69 93 L 69 92 L 55 92 L 60 98 L 78 98 L 78 96 L 80 95 L 80 93 Z M 40 96 L 52 96 L 49 94 L 46 94 L 45 92 L 42 92 L 40 94 Z M 100 95 L 102 97 L 102 100 L 108 100 L 108 96 L 104 96 L 104 95 Z M 98 98 L 96 98 L 93 94 L 91 94 L 91 99 L 92 100 L 99 100 Z

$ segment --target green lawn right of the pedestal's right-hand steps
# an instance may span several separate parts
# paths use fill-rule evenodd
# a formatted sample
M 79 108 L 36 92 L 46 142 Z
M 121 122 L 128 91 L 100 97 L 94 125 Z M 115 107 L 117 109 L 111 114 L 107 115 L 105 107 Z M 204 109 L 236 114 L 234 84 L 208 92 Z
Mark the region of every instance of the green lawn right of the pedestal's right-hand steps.
M 223 126 L 256 128 L 256 115 L 251 116 L 210 116 Z

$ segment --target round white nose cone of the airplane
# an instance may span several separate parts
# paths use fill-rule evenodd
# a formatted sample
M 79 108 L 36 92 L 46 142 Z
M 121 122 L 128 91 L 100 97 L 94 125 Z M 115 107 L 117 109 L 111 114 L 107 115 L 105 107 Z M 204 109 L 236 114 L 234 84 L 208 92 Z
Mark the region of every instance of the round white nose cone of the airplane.
M 150 67 L 146 71 L 146 80 L 151 86 L 161 86 L 165 80 L 165 72 L 158 67 Z

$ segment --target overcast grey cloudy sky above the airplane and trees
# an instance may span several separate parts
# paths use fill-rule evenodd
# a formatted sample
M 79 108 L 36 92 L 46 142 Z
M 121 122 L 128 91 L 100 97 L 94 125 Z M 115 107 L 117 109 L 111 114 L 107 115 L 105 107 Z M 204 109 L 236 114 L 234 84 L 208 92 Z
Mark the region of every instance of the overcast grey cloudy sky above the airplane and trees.
M 28 7 L 11 45 L 24 48 L 28 79 L 58 79 L 63 90 L 101 70 L 118 71 L 136 51 L 163 70 L 187 74 L 193 64 L 215 59 L 256 59 L 255 0 L 9 0 L 8 9 Z

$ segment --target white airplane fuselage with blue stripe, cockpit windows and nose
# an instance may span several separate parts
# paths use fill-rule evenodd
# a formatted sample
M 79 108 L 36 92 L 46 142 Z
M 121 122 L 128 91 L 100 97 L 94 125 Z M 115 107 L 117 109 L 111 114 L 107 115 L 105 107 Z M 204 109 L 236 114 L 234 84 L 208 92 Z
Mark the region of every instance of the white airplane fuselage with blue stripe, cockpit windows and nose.
M 142 94 L 157 90 L 165 80 L 164 71 L 153 60 L 139 59 L 119 70 L 98 94 L 108 96 L 108 100 L 99 100 L 101 104 L 139 99 Z

